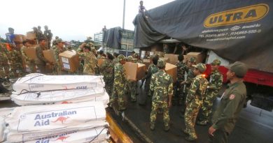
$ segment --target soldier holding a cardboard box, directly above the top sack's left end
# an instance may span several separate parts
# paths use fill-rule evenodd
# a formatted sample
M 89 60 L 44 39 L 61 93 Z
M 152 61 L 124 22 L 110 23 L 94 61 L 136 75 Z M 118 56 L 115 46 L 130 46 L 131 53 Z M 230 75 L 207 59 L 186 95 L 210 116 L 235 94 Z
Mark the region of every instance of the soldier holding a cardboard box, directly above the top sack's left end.
M 29 57 L 27 57 L 27 54 L 25 53 L 25 50 L 29 47 L 30 47 L 29 42 L 27 42 L 27 40 L 23 41 L 23 46 L 21 47 L 21 54 L 22 59 L 25 59 L 27 66 L 29 66 L 30 73 L 34 73 L 35 59 L 30 59 Z

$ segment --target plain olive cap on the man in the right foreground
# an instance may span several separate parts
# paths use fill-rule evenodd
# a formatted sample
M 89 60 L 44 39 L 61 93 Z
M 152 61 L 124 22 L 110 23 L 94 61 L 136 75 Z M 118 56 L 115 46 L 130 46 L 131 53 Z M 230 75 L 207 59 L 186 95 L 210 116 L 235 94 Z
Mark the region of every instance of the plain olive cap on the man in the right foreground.
M 235 73 L 235 75 L 244 77 L 246 75 L 246 72 L 248 70 L 245 63 L 242 63 L 241 61 L 236 61 L 235 63 L 232 63 L 230 66 L 226 66 L 229 70 Z

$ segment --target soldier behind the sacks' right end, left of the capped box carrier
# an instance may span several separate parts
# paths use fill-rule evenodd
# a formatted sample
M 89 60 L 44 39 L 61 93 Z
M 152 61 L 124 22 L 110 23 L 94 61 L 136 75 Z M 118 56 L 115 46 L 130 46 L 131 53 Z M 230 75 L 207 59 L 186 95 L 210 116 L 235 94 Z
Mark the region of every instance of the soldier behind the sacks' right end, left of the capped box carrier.
M 112 94 L 113 90 L 113 56 L 109 52 L 106 53 L 106 60 L 102 63 L 102 66 L 99 68 L 100 73 L 104 75 L 105 89 L 109 96 Z

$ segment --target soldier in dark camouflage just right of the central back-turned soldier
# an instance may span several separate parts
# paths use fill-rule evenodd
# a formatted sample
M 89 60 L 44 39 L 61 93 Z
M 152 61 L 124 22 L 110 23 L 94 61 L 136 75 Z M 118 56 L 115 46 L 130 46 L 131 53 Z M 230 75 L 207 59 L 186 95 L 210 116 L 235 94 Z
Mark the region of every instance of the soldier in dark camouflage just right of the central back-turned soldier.
M 185 63 L 183 63 L 183 54 L 179 55 L 179 61 L 176 63 L 177 66 L 177 82 L 176 82 L 176 100 L 178 101 L 179 105 L 183 103 L 185 97 L 183 97 L 183 85 L 182 82 L 185 81 L 185 73 L 188 70 L 188 67 Z

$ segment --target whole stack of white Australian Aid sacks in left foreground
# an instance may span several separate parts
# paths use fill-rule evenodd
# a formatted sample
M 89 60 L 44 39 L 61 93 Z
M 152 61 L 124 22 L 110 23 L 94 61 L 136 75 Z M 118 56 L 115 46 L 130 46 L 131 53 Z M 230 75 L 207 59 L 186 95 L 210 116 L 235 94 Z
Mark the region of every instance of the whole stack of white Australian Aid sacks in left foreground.
M 24 106 L 5 117 L 6 142 L 106 142 L 109 138 L 105 111 L 109 96 L 102 76 L 31 74 L 15 82 L 13 90 L 12 100 Z

